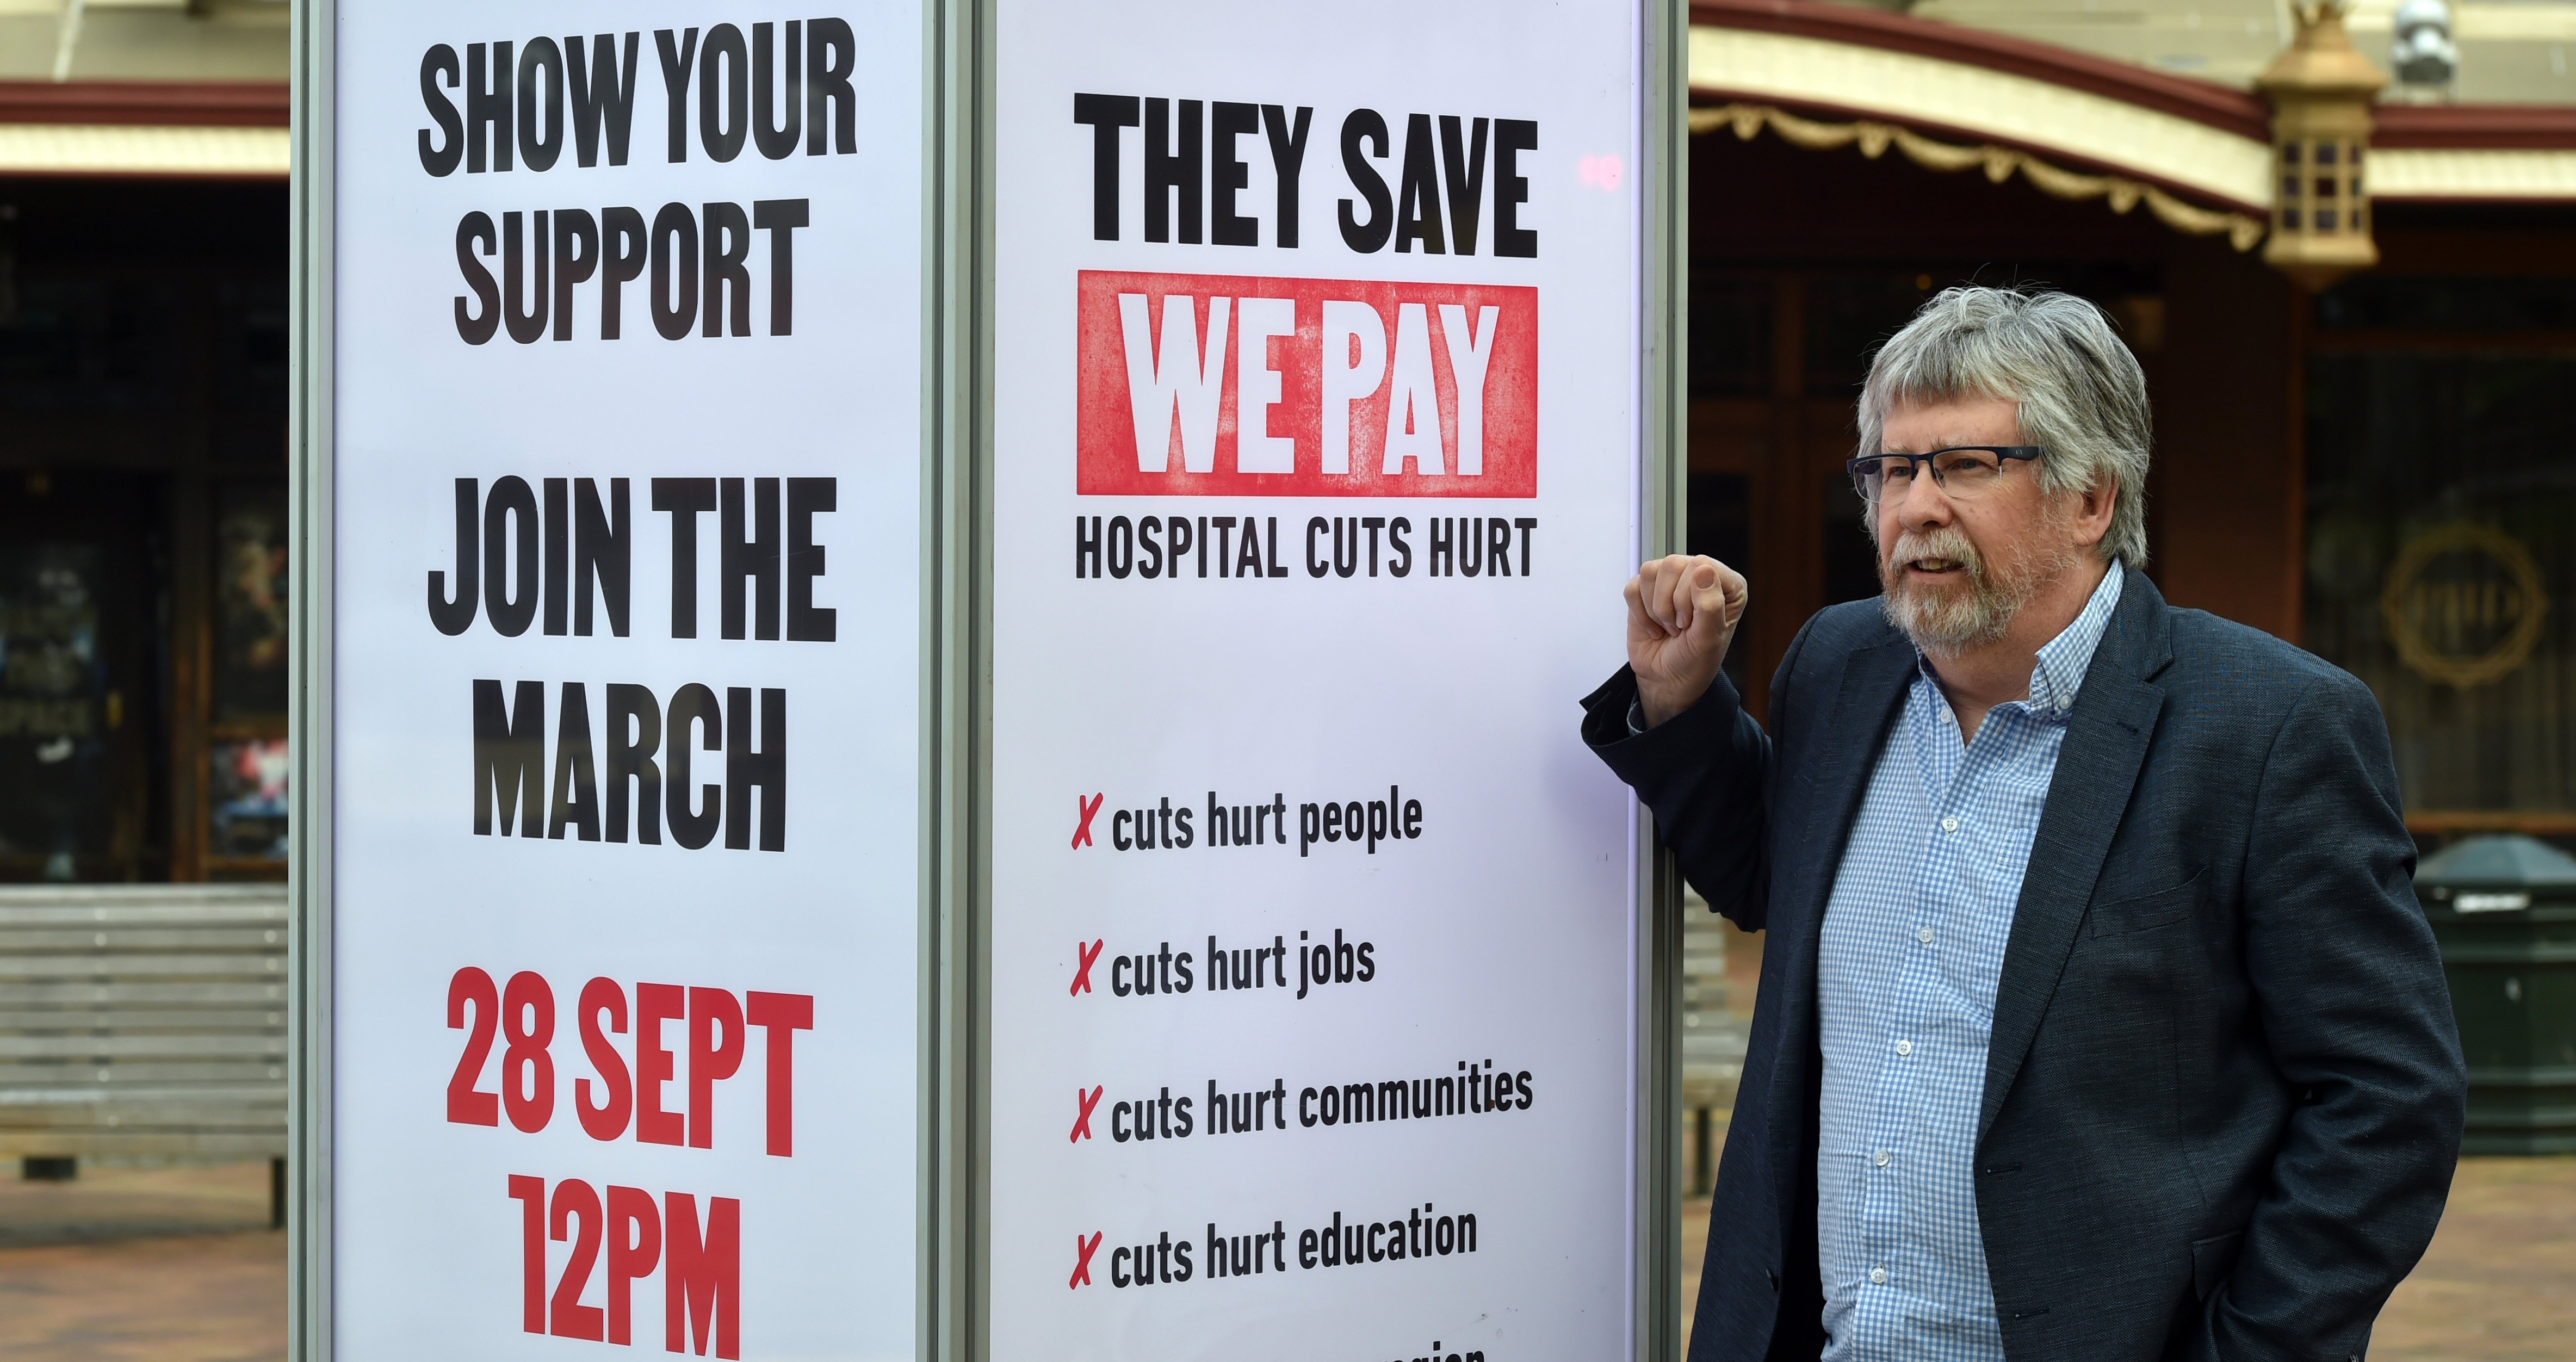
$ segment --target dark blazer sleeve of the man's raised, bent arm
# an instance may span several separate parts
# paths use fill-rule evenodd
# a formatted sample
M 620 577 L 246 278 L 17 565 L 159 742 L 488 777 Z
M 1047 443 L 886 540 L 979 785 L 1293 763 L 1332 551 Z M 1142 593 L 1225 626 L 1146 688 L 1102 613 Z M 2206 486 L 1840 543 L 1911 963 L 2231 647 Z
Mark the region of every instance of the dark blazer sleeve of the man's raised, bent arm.
M 1772 721 L 1785 723 L 1788 677 L 1806 644 L 1790 644 L 1772 682 Z M 1772 739 L 1736 685 L 1718 672 L 1700 703 L 1628 731 L 1636 672 L 1620 667 L 1584 698 L 1584 744 L 1654 811 L 1654 826 L 1682 863 L 1682 878 L 1736 927 L 1759 932 L 1770 899 Z

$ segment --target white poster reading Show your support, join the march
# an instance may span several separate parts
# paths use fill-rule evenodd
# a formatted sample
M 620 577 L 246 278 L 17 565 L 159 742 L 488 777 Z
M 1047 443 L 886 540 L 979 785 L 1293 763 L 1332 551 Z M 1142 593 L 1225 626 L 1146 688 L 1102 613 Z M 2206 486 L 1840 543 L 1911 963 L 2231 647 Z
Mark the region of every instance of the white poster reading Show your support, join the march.
M 337 1357 L 914 1354 L 920 70 L 340 5 Z

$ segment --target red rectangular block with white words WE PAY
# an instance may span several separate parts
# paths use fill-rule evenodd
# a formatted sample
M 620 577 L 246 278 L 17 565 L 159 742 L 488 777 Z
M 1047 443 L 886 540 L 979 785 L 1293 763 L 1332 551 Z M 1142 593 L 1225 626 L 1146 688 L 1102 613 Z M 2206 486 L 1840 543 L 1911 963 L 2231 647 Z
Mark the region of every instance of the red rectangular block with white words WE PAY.
M 1082 270 L 1084 497 L 1535 497 L 1538 288 Z

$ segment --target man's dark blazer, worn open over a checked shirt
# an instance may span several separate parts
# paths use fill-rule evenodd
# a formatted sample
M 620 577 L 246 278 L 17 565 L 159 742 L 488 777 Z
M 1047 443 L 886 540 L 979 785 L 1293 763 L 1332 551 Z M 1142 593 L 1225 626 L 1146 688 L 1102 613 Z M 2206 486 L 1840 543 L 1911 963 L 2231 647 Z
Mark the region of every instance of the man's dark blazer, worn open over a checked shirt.
M 2128 572 L 2128 569 L 2125 569 Z M 1767 929 L 1690 1362 L 1814 1359 L 1816 942 L 1914 646 L 1798 631 L 1772 731 L 1721 677 L 1584 739 Z M 2465 1074 L 2370 690 L 2138 572 L 2084 672 L 2004 947 L 1976 1210 L 2014 1362 L 2357 1357 L 2424 1254 Z

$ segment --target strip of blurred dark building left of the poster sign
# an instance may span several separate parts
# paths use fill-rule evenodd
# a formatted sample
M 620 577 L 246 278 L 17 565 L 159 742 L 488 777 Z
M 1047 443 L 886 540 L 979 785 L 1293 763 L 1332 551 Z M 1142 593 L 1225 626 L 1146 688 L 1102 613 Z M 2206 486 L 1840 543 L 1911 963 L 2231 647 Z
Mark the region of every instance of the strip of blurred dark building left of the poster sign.
M 283 875 L 286 5 L 0 0 L 0 878 Z

